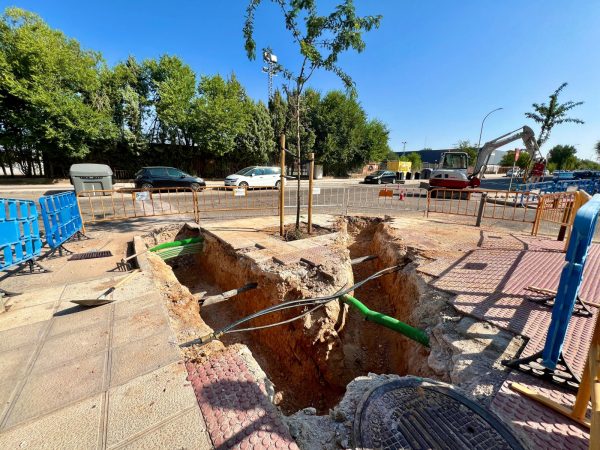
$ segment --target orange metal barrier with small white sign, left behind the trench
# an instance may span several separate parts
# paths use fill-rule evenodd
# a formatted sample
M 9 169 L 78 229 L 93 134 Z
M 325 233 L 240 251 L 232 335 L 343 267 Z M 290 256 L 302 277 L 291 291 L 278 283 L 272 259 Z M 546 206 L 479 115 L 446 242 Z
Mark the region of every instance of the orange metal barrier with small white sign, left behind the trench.
M 197 192 L 191 188 L 80 191 L 77 203 L 84 224 L 168 215 L 192 215 L 198 222 Z

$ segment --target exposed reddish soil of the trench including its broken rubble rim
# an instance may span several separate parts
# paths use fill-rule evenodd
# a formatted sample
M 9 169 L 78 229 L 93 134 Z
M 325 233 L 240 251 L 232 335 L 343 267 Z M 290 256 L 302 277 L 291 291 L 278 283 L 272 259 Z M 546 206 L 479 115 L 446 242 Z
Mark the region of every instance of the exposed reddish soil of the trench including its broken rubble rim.
M 383 268 L 400 267 L 360 287 L 354 296 L 374 311 L 426 330 L 431 348 L 367 322 L 357 311 L 332 301 L 298 320 L 225 334 L 219 341 L 186 350 L 186 358 L 202 360 L 224 346 L 246 345 L 273 382 L 269 396 L 290 415 L 288 424 L 301 447 L 333 449 L 348 446 L 356 399 L 370 386 L 368 380 L 380 379 L 374 374 L 451 382 L 487 405 L 506 377 L 500 361 L 514 357 L 522 346 L 521 339 L 506 331 L 461 317 L 449 305 L 449 294 L 431 288 L 428 276 L 416 272 L 419 264 L 430 259 L 463 254 L 476 245 L 478 234 L 460 234 L 458 227 L 443 229 L 431 222 L 421 227 L 423 221 L 405 222 L 346 217 L 334 230 L 327 230 L 335 232 L 331 238 L 315 239 L 334 255 L 316 267 L 302 262 L 280 265 L 269 258 L 260 262 L 248 256 L 253 249 L 236 251 L 194 226 L 162 229 L 147 236 L 146 242 L 155 245 L 161 238 L 199 233 L 205 239 L 201 254 L 169 264 L 148 256 L 180 342 L 266 307 L 331 295 Z M 352 259 L 370 255 L 376 258 L 351 264 Z M 203 296 L 251 282 L 258 287 L 228 300 L 198 305 Z M 288 309 L 255 318 L 242 328 L 273 324 L 304 312 Z

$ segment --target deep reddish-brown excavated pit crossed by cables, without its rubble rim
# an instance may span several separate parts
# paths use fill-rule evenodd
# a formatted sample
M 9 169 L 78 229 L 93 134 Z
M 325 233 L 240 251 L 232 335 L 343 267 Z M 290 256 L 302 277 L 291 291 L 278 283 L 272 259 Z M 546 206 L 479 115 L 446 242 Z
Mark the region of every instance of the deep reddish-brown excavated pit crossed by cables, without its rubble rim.
M 275 264 L 265 259 L 257 264 L 253 252 L 236 252 L 227 243 L 204 233 L 202 254 L 186 257 L 185 264 L 173 265 L 179 282 L 195 295 L 216 295 L 250 282 L 258 287 L 228 300 L 202 306 L 200 315 L 213 330 L 258 310 L 288 300 L 335 293 L 344 284 L 360 281 L 385 267 L 400 264 L 406 270 L 370 282 L 354 296 L 378 311 L 413 326 L 418 325 L 419 287 L 409 270 L 406 248 L 388 235 L 381 220 L 350 221 L 337 231 L 337 260 L 322 267 L 307 264 Z M 315 239 L 311 237 L 308 239 Z M 315 241 L 316 242 L 316 241 Z M 268 249 L 258 250 L 259 252 Z M 350 260 L 376 255 L 377 258 L 351 265 Z M 344 279 L 342 279 L 344 278 Z M 337 283 L 337 285 L 336 285 Z M 245 327 L 279 322 L 306 312 L 290 309 L 254 319 Z M 365 321 L 356 310 L 337 300 L 299 320 L 285 325 L 249 332 L 226 334 L 225 345 L 247 345 L 275 385 L 275 403 L 290 414 L 306 407 L 327 413 L 343 396 L 346 385 L 368 373 L 434 377 L 428 369 L 428 350 L 406 337 Z

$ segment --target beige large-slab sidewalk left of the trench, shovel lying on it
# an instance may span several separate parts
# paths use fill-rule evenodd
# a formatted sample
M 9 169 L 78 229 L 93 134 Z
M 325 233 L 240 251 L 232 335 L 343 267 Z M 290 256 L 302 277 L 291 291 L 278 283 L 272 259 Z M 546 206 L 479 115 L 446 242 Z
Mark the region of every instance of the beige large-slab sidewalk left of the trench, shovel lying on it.
M 0 314 L 0 448 L 212 448 L 147 274 L 29 290 Z

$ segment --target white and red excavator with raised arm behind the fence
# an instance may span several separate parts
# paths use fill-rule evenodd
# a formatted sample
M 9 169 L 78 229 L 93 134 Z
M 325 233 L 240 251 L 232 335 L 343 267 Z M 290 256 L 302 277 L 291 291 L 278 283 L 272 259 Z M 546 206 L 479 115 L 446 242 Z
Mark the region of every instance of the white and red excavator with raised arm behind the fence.
M 469 157 L 466 153 L 444 153 L 438 168 L 431 173 L 431 178 L 429 179 L 430 188 L 465 189 L 479 187 L 481 176 L 485 173 L 488 161 L 494 150 L 519 139 L 523 140 L 525 149 L 531 155 L 532 161 L 541 156 L 533 130 L 528 126 L 523 126 L 486 142 L 479 149 L 473 173 L 470 175 L 467 173 Z M 527 176 L 528 173 L 526 172 L 524 175 L 525 179 Z

